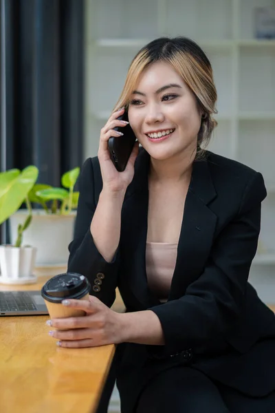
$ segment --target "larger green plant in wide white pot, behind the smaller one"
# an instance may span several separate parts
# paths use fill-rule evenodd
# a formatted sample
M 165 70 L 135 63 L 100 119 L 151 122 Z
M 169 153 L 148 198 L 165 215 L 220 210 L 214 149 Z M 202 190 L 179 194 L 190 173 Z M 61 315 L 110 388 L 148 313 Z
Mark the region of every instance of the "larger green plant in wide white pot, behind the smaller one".
M 79 173 L 79 167 L 64 173 L 60 188 L 35 184 L 29 193 L 30 202 L 42 206 L 32 210 L 32 224 L 24 234 L 25 242 L 37 248 L 36 275 L 54 275 L 67 269 L 79 195 L 74 186 Z M 18 223 L 26 215 L 28 209 L 21 209 L 10 218 L 12 240 L 17 236 Z

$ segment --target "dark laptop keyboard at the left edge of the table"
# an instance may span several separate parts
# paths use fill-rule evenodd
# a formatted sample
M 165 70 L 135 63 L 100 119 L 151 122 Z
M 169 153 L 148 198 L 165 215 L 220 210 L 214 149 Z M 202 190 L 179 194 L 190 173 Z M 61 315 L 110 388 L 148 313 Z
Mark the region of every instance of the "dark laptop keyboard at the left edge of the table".
M 25 292 L 0 293 L 0 311 L 37 310 L 32 297 Z

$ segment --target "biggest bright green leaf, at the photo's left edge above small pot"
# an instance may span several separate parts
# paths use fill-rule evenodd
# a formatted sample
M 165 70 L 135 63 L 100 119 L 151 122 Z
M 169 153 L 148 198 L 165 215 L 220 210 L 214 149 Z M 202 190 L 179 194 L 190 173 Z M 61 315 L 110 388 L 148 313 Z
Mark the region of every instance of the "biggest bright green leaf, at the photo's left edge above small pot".
M 39 170 L 31 165 L 23 171 L 11 169 L 0 175 L 0 224 L 21 206 L 34 186 Z

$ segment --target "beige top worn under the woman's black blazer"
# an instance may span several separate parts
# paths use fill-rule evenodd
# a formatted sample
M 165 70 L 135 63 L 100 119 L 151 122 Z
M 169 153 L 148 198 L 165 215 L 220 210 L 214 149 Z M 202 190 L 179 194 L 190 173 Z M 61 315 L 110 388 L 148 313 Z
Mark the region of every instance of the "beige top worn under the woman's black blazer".
M 146 273 L 148 286 L 159 301 L 167 301 L 175 264 L 177 244 L 166 242 L 146 243 Z

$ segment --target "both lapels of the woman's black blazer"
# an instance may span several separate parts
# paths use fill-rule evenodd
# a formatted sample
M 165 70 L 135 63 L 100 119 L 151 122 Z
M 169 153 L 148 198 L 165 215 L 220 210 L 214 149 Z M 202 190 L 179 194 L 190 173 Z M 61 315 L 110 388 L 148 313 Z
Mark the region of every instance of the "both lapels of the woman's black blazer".
M 132 291 L 143 308 L 160 303 L 149 290 L 146 278 L 149 162 L 148 153 L 141 149 L 135 162 L 135 176 L 126 191 L 122 207 L 122 267 L 126 275 L 123 282 L 128 284 L 128 290 Z M 168 300 L 184 295 L 188 285 L 203 271 L 217 222 L 217 215 L 207 205 L 215 196 L 208 161 L 195 161 Z

